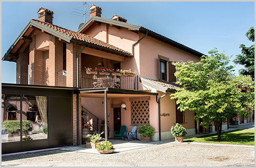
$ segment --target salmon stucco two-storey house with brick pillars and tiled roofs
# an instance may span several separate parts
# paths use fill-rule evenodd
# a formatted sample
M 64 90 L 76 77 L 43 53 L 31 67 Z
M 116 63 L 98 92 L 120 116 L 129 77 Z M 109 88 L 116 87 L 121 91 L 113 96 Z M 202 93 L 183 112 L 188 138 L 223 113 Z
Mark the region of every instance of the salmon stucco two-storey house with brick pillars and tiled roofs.
M 86 128 L 108 130 L 105 137 L 113 138 L 122 125 L 131 131 L 148 123 L 155 128 L 152 141 L 172 138 L 175 123 L 187 135 L 214 130 L 169 97 L 180 87 L 172 62 L 199 62 L 203 53 L 118 15 L 102 18 L 101 10 L 92 5 L 90 20 L 74 32 L 54 25 L 54 12 L 40 8 L 5 53 L 2 60 L 16 62 L 17 84 L 2 83 L 2 124 L 16 120 L 20 130 L 30 128 L 4 133 L 3 152 L 81 145 Z M 113 69 L 135 74 L 108 72 Z M 37 147 L 22 141 L 30 131 Z

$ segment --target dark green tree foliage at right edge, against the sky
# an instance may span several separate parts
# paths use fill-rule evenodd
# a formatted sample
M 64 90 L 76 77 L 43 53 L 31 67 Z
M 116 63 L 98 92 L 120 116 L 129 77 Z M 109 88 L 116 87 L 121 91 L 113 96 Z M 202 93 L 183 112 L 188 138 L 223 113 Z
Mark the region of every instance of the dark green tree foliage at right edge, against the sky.
M 248 40 L 254 42 L 254 27 L 250 27 L 248 32 L 245 34 Z M 240 69 L 239 73 L 242 75 L 251 75 L 254 80 L 254 44 L 246 47 L 244 44 L 239 46 L 241 48 L 241 54 L 236 55 L 234 59 L 235 64 L 241 64 L 245 69 Z

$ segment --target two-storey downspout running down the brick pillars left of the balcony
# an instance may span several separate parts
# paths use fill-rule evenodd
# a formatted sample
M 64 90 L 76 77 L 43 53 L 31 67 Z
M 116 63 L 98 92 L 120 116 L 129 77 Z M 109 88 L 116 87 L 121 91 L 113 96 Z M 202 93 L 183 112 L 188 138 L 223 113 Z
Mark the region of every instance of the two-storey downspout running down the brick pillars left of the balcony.
M 86 48 L 86 44 L 83 44 L 82 49 L 80 49 L 77 53 L 76 53 L 76 87 L 78 89 L 79 85 L 78 85 L 78 81 L 79 81 L 79 76 L 78 76 L 78 72 L 79 72 L 79 62 L 78 62 L 78 58 L 79 58 L 79 53 L 82 52 L 82 50 Z M 79 139 L 79 94 L 76 94 L 76 124 L 77 124 L 77 145 L 80 145 L 80 139 Z

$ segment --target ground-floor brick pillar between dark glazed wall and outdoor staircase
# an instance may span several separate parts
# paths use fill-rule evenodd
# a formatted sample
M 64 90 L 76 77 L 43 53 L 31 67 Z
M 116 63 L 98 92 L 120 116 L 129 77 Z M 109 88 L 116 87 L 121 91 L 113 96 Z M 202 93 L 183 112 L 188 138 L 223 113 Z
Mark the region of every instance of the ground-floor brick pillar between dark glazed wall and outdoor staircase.
M 77 142 L 77 98 L 73 94 L 73 145 L 82 145 L 81 94 L 79 94 L 79 142 Z

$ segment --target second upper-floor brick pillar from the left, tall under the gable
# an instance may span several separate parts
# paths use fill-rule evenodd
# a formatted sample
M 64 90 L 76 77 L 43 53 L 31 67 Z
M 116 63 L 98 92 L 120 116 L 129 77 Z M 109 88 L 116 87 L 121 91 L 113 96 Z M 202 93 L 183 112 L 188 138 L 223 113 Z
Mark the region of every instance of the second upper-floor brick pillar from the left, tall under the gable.
M 44 52 L 35 49 L 36 37 L 29 45 L 29 84 L 44 85 Z

